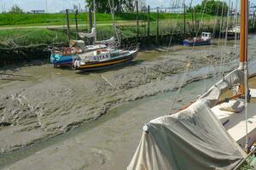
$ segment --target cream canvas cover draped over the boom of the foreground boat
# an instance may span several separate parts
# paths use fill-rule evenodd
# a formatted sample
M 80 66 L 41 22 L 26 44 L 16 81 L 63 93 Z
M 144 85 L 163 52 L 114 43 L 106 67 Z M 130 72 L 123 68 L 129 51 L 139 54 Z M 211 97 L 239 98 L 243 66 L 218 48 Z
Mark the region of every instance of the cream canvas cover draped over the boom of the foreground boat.
M 154 119 L 128 170 L 232 169 L 245 153 L 212 113 L 220 94 L 243 81 L 242 71 L 232 71 L 193 105 L 170 116 Z

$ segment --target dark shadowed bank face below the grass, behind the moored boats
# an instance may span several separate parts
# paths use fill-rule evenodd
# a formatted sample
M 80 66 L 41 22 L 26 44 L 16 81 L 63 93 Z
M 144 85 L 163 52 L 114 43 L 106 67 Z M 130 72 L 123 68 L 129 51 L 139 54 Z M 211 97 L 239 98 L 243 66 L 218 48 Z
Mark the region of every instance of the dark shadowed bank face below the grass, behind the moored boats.
M 200 33 L 199 33 L 200 34 Z M 218 34 L 216 34 L 218 35 Z M 190 37 L 191 35 L 187 35 Z M 194 35 L 195 36 L 195 35 Z M 183 33 L 160 35 L 158 38 L 155 35 L 122 38 L 120 48 L 135 48 L 137 45 L 140 48 L 170 46 L 170 44 L 181 44 L 183 41 Z M 172 40 L 172 42 L 170 42 Z M 85 44 L 90 44 L 90 41 L 85 40 Z M 1 45 L 1 44 L 0 44 Z M 24 62 L 32 62 L 33 59 L 44 59 L 49 62 L 50 50 L 54 47 L 68 47 L 68 42 L 52 44 L 32 44 L 29 46 L 16 47 L 15 44 L 0 46 L 0 68 L 11 64 L 20 64 Z

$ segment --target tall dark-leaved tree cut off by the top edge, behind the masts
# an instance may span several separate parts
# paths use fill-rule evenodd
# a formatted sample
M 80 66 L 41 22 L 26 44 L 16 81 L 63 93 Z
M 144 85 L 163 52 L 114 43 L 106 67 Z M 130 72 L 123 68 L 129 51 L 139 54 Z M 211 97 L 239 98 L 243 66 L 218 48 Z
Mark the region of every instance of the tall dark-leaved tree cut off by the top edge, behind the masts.
M 93 8 L 93 0 L 85 0 L 85 2 L 88 7 Z M 110 2 L 112 3 L 112 0 Z M 114 0 L 113 3 L 116 13 L 134 11 L 134 0 Z M 96 0 L 96 11 L 98 13 L 110 13 L 108 0 Z

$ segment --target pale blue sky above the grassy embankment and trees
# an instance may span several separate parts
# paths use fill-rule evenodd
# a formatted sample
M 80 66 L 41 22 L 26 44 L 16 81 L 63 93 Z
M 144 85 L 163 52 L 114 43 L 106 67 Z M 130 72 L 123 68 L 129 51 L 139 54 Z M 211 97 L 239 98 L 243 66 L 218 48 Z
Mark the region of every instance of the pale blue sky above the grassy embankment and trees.
M 146 3 L 151 8 L 155 7 L 170 7 L 176 0 L 146 0 Z M 180 0 L 182 2 L 183 0 Z M 228 1 L 228 0 L 227 0 Z M 236 0 L 231 0 L 236 2 Z M 240 0 L 238 0 L 239 2 Z M 25 11 L 31 10 L 45 10 L 47 2 L 47 11 L 49 13 L 56 13 L 66 8 L 73 8 L 73 4 L 81 4 L 81 8 L 84 8 L 84 0 L 0 0 L 0 13 L 2 10 L 8 11 L 14 4 L 19 5 Z M 189 4 L 191 0 L 185 0 L 185 3 Z M 256 4 L 256 0 L 251 0 L 253 4 Z M 201 0 L 193 0 L 193 4 L 201 3 Z

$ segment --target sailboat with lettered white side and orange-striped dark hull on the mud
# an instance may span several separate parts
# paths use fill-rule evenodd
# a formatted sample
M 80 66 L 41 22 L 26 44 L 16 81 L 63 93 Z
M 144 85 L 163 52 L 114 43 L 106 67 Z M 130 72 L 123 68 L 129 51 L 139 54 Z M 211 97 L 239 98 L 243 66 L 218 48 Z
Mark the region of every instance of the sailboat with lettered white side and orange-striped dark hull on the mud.
M 90 53 L 79 54 L 73 62 L 75 70 L 92 71 L 101 70 L 116 65 L 125 64 L 137 55 L 136 50 L 98 49 Z

